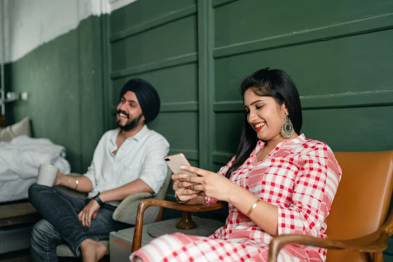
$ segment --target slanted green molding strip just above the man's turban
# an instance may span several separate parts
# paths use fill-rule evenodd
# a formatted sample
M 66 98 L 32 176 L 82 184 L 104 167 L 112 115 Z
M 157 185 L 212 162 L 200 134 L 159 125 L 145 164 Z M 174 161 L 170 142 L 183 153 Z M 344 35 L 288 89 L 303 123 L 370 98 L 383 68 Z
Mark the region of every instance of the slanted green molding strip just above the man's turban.
M 190 53 L 182 56 L 170 57 L 161 61 L 153 63 L 128 67 L 125 69 L 114 71 L 110 74 L 111 79 L 121 78 L 125 76 L 131 76 L 135 74 L 141 74 L 146 72 L 152 72 L 164 68 L 170 68 L 180 65 L 187 65 L 198 62 L 198 53 Z

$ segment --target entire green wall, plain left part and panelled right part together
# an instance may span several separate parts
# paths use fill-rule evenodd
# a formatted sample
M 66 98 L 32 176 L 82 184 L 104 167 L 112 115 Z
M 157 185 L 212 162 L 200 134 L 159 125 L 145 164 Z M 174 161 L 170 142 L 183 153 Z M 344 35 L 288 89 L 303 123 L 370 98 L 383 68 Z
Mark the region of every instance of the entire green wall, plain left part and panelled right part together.
M 11 89 L 29 92 L 11 106 L 11 121 L 29 115 L 34 136 L 66 146 L 73 171 L 84 172 L 115 127 L 120 88 L 141 77 L 161 96 L 149 127 L 170 153 L 217 171 L 238 143 L 241 80 L 270 67 L 295 80 L 307 137 L 334 151 L 393 150 L 392 13 L 387 0 L 139 0 L 8 64 Z

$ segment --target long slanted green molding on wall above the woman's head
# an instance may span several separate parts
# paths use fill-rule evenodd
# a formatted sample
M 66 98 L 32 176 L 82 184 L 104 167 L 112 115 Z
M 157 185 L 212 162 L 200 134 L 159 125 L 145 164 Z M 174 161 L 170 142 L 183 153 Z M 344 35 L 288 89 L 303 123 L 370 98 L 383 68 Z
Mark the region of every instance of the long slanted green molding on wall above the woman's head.
M 332 40 L 391 28 L 393 28 L 393 13 L 388 13 L 338 25 L 302 30 L 291 34 L 216 47 L 213 51 L 213 57 L 218 59 L 255 51 L 271 50 L 312 42 Z

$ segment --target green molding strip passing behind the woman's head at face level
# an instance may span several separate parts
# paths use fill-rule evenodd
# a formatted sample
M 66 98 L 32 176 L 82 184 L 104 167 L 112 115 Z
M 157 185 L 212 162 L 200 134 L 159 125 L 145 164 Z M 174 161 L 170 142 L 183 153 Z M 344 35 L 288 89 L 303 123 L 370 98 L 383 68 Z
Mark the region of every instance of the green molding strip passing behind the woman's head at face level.
M 393 104 L 393 89 L 358 93 L 301 96 L 302 109 L 348 108 Z M 214 102 L 214 112 L 243 112 L 244 103 L 237 101 Z

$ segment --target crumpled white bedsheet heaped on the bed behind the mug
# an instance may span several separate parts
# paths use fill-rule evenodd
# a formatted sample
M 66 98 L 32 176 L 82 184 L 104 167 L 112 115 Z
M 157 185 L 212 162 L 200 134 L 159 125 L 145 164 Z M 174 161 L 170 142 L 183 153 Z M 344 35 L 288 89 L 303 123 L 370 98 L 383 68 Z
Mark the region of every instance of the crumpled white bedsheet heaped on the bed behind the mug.
M 69 174 L 65 148 L 49 139 L 19 136 L 0 142 L 0 202 L 27 198 L 27 189 L 37 181 L 41 164 L 52 164 Z

